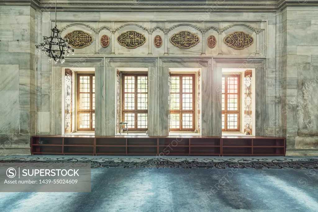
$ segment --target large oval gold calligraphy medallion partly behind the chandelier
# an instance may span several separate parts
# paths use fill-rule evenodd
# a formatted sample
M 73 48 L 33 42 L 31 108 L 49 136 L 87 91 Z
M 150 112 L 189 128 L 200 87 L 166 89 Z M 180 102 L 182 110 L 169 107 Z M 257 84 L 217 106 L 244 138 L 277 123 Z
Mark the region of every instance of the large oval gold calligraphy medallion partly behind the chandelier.
M 87 32 L 80 30 L 67 33 L 64 36 L 64 39 L 66 38 L 68 39 L 68 44 L 76 49 L 84 48 L 85 46 L 89 46 L 91 43 L 93 43 L 93 37 Z

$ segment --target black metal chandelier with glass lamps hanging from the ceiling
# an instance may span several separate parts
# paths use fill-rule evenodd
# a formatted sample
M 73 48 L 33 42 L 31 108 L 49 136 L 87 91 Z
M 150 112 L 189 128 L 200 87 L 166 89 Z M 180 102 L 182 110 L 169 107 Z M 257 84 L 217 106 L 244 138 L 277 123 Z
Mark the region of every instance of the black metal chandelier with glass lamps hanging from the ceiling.
M 74 55 L 74 49 L 68 45 L 68 39 L 62 39 L 60 31 L 56 28 L 56 2 L 55 0 L 55 27 L 51 29 L 52 34 L 50 37 L 43 36 L 44 42 L 40 45 L 35 45 L 38 52 L 42 51 L 42 54 L 48 56 L 48 61 L 52 59 L 55 64 L 60 61 L 61 64 L 65 62 L 65 58 L 70 54 Z

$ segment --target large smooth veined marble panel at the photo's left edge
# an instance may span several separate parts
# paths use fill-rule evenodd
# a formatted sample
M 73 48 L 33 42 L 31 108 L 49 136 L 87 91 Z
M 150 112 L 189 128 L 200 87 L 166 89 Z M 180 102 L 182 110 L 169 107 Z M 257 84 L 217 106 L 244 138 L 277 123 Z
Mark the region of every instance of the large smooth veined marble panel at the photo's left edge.
M 0 134 L 17 133 L 19 127 L 19 65 L 0 65 Z

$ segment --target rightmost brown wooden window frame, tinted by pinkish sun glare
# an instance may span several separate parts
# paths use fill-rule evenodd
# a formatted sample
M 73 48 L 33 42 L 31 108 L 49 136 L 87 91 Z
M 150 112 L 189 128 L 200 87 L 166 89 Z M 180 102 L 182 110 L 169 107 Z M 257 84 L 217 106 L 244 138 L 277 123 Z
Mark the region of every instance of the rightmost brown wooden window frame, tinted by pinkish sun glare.
M 225 114 L 224 128 L 223 132 L 240 132 L 241 131 L 241 74 L 222 74 L 222 77 L 225 77 L 225 110 L 222 110 L 222 115 Z M 227 92 L 227 78 L 228 77 L 237 77 L 238 78 L 238 93 L 228 93 Z M 228 108 L 228 94 L 237 94 L 238 95 L 238 110 L 227 110 Z M 222 108 L 222 107 L 221 107 Z M 227 129 L 227 114 L 238 114 L 238 129 Z M 221 124 L 222 126 L 222 124 Z

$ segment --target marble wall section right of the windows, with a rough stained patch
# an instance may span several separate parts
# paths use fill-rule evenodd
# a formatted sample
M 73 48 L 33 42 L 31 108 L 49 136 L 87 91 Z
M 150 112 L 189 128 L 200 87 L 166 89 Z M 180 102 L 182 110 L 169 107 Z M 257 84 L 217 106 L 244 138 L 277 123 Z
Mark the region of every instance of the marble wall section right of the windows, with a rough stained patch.
M 317 8 L 291 7 L 282 17 L 282 125 L 287 147 L 318 148 Z

